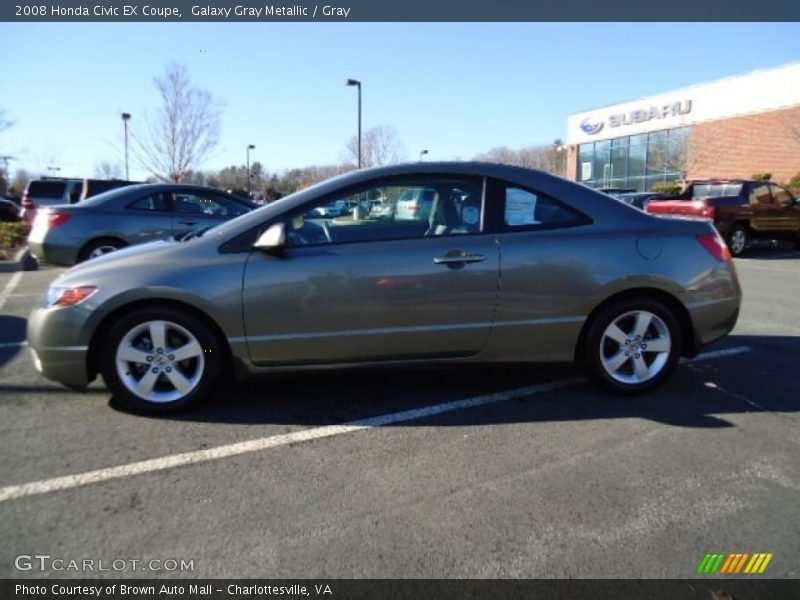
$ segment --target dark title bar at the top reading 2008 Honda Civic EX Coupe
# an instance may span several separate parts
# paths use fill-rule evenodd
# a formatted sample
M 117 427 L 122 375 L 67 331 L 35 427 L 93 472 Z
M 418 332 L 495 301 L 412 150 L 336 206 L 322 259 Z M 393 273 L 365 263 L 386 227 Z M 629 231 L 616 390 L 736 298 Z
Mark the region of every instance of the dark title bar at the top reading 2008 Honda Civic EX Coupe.
M 796 21 L 800 3 L 787 0 L 17 0 L 0 3 L 0 20 L 116 22 L 355 21 Z M 700 32 L 675 29 L 674 43 Z M 695 40 L 695 41 L 692 41 Z

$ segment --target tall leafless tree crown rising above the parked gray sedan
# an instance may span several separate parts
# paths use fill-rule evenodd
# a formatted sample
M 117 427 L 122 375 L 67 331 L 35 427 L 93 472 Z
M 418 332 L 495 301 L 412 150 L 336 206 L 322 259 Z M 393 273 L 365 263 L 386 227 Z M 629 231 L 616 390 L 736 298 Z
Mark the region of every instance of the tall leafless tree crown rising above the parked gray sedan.
M 209 92 L 192 85 L 183 65 L 167 65 L 155 86 L 161 107 L 133 133 L 134 152 L 155 177 L 177 183 L 217 145 L 221 107 Z

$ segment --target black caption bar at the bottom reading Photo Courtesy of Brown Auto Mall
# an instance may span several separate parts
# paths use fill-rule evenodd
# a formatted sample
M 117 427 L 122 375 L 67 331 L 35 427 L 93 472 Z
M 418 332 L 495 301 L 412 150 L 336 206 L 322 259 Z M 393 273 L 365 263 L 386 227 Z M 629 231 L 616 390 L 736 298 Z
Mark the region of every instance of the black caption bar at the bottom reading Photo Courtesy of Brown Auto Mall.
M 797 580 L 4 580 L 4 599 L 789 600 Z

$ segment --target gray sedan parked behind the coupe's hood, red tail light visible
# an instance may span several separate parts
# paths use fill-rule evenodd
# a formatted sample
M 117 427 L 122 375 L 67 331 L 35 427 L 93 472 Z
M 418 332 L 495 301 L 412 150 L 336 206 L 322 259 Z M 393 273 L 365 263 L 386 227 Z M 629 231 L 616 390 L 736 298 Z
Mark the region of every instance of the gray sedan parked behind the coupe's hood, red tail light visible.
M 213 188 L 131 185 L 38 211 L 28 246 L 40 260 L 73 265 L 125 246 L 181 237 L 254 208 L 247 200 Z

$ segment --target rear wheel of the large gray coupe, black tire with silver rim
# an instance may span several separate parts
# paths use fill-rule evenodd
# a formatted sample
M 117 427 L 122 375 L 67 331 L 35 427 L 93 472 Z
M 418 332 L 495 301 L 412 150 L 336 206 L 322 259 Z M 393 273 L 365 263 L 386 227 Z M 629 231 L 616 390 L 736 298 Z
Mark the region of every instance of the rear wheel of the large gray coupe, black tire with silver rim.
M 678 363 L 682 344 L 673 312 L 647 298 L 605 308 L 585 339 L 583 359 L 592 379 L 622 394 L 643 393 L 663 383 Z

